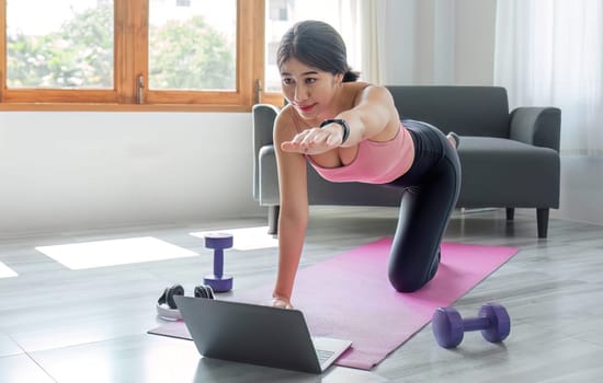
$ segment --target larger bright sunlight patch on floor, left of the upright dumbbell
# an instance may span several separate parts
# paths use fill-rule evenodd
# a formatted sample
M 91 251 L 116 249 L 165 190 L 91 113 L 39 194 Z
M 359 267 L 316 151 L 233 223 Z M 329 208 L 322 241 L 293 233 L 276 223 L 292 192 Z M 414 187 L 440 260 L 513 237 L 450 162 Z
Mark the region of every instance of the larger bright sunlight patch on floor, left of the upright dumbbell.
M 152 236 L 38 246 L 36 249 L 73 270 L 198 255 Z

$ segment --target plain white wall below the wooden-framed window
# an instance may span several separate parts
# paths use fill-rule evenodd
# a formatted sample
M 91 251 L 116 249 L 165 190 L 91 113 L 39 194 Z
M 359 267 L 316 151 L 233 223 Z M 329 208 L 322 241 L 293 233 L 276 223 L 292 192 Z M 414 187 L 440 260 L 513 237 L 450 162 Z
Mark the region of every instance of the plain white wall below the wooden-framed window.
M 0 236 L 244 217 L 249 113 L 0 113 Z

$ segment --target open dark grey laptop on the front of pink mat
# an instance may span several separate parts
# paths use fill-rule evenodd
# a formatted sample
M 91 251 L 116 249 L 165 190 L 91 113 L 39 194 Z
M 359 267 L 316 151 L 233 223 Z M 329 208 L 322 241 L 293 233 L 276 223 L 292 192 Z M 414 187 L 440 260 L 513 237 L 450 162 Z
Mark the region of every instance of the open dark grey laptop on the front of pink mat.
M 350 340 L 311 337 L 299 310 L 175 295 L 203 357 L 322 373 Z

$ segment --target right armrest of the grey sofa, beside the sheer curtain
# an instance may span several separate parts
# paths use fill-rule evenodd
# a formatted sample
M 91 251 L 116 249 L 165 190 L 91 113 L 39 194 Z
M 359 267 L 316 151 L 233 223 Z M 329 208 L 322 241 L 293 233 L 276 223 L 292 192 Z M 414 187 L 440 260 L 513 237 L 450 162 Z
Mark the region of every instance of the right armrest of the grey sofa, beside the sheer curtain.
M 557 107 L 517 107 L 511 112 L 512 140 L 559 152 L 561 111 Z

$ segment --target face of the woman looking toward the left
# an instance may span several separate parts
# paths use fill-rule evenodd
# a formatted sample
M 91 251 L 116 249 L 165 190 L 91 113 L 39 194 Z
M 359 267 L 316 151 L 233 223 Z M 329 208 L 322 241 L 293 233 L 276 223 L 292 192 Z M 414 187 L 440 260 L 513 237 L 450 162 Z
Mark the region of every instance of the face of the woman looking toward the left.
M 304 119 L 331 116 L 343 74 L 332 74 L 291 58 L 281 68 L 281 86 L 288 103 Z

